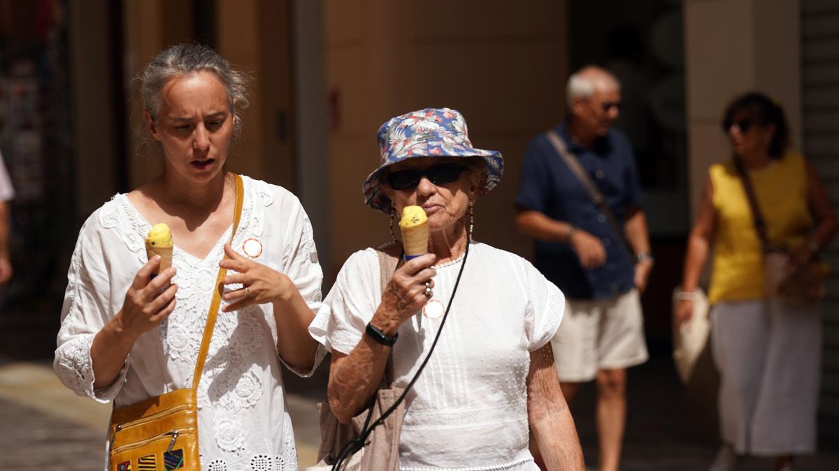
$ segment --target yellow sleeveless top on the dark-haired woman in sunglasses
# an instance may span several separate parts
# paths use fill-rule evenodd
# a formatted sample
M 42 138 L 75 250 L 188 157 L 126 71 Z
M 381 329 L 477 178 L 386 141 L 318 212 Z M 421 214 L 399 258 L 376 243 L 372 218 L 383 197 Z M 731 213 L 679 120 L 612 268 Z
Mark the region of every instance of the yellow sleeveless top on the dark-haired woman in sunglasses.
M 763 248 L 737 168 L 732 162 L 717 163 L 708 173 L 717 213 L 709 301 L 763 298 Z M 788 247 L 805 241 L 813 220 L 801 154 L 786 153 L 769 166 L 749 172 L 749 176 L 769 241 Z

